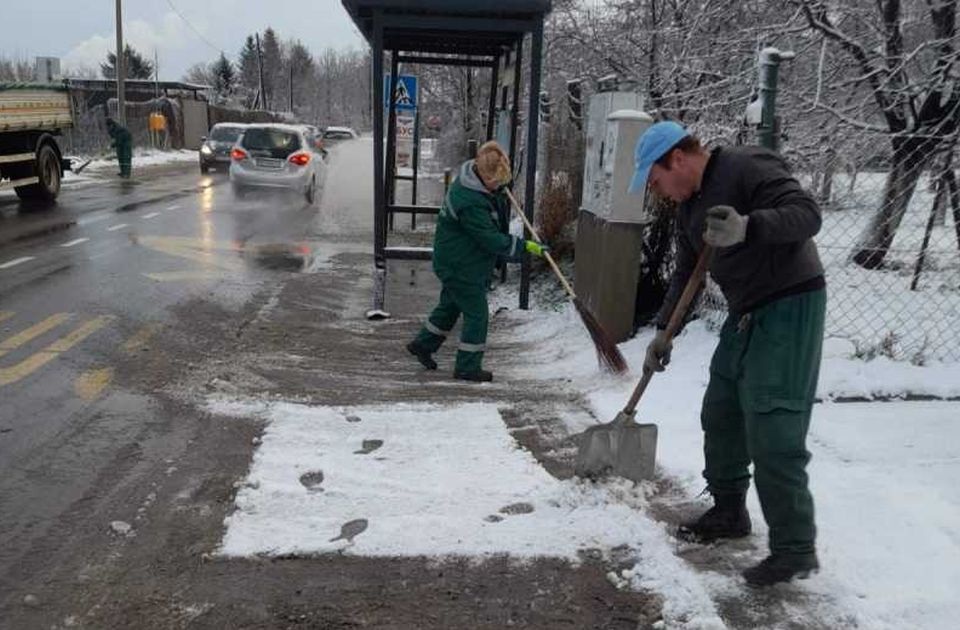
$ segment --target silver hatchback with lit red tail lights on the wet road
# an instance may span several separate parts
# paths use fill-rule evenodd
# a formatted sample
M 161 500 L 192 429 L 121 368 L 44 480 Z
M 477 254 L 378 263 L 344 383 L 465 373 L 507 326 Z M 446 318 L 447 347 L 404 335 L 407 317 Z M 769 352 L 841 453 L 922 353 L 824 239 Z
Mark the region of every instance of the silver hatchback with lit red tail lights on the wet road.
M 324 161 L 302 127 L 248 125 L 230 157 L 230 183 L 237 196 L 251 188 L 280 188 L 313 203 L 323 187 Z

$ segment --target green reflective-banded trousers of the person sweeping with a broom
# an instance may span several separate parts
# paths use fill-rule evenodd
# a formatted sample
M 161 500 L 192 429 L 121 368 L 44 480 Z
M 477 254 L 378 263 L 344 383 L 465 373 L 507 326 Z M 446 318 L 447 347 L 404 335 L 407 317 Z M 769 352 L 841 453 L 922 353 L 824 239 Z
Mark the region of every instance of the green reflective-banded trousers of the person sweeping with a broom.
M 460 373 L 477 372 L 483 364 L 487 343 L 487 289 L 482 284 L 444 282 L 437 304 L 420 332 L 416 342 L 430 352 L 436 352 L 453 330 L 463 313 L 463 329 L 457 349 L 455 370 Z

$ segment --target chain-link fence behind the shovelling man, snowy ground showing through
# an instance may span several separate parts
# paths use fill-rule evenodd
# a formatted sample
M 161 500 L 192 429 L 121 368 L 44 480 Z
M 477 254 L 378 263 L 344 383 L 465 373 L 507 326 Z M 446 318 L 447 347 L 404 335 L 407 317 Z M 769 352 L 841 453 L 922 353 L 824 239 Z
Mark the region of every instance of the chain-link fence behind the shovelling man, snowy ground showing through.
M 827 144 L 819 170 L 798 171 L 823 208 L 816 240 L 827 272 L 827 334 L 868 358 L 958 360 L 960 191 L 952 147 L 858 135 L 855 158 Z M 899 150 L 911 141 L 912 150 Z

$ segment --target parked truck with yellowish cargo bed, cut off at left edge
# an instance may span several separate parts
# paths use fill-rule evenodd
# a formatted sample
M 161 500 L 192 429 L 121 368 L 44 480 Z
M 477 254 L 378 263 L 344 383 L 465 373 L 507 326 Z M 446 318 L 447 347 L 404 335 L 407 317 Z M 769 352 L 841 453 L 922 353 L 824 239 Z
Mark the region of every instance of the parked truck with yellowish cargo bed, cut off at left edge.
M 64 159 L 58 138 L 74 125 L 64 84 L 0 83 L 0 190 L 51 202 L 60 193 Z

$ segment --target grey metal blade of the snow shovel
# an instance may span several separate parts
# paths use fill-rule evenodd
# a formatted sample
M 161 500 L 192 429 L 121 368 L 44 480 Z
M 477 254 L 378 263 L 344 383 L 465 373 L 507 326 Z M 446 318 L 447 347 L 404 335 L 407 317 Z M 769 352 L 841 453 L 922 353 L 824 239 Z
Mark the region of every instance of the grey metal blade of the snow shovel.
M 652 479 L 657 462 L 657 425 L 638 424 L 621 411 L 612 422 L 590 427 L 580 436 L 578 477 L 616 475 L 631 481 Z

